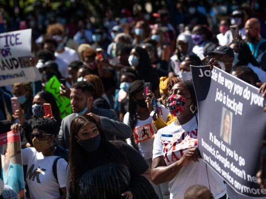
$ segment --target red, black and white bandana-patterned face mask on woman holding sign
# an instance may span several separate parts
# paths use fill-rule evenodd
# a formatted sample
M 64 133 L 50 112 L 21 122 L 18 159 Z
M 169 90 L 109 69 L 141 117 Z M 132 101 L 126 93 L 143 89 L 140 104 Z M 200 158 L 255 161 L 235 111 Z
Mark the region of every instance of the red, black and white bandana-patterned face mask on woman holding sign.
M 186 98 L 173 94 L 167 99 L 168 111 L 173 116 L 177 116 L 185 110 L 186 108 L 185 103 L 186 103 Z

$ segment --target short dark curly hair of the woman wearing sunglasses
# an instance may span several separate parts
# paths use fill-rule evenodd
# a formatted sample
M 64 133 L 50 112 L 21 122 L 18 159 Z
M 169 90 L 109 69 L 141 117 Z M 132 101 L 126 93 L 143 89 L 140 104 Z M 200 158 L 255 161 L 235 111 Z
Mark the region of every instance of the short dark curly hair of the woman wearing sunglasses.
M 39 118 L 32 124 L 32 130 L 33 129 L 40 129 L 44 130 L 47 133 L 50 133 L 56 137 L 59 128 L 57 126 L 57 123 L 55 119 L 53 118 Z

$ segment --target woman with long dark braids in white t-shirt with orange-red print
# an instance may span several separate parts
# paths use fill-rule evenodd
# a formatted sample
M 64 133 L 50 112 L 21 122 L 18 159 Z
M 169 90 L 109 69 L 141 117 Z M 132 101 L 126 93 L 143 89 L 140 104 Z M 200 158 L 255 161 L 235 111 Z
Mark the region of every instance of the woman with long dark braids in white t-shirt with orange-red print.
M 133 129 L 133 136 L 127 139 L 128 144 L 135 147 L 147 164 L 151 167 L 152 163 L 152 148 L 154 136 L 157 132 L 152 123 L 152 116 L 147 107 L 147 103 L 143 97 L 144 82 L 141 80 L 134 81 L 129 88 L 129 105 L 128 110 L 124 116 L 124 123 L 128 124 Z M 166 121 L 168 111 L 165 107 L 162 108 L 163 120 Z M 162 199 L 162 195 L 167 191 L 160 190 L 159 186 L 154 185 L 156 194 Z

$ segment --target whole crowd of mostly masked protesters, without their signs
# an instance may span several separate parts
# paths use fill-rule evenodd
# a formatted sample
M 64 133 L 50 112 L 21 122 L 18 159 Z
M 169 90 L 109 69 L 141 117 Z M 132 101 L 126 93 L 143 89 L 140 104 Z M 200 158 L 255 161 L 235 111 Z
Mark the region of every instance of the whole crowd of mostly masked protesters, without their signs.
M 20 18 L 26 27 L 9 16 L 5 31 L 32 29 L 31 61 L 41 80 L 0 87 L 0 132 L 20 132 L 26 184 L 10 184 L 7 172 L 21 168 L 7 159 L 1 196 L 250 198 L 226 185 L 197 145 L 165 153 L 170 137 L 198 129 L 190 65 L 221 68 L 266 96 L 266 16 L 259 14 L 265 3 L 210 1 L 208 9 L 200 0 L 167 1 L 152 12 L 125 8 L 119 16 L 108 9 L 98 20 L 82 4 L 62 1 L 53 10 L 36 1 L 34 11 Z M 70 99 L 72 113 L 64 118 L 45 91 L 54 76 L 63 81 L 60 94 Z M 144 98 L 145 83 L 151 87 Z M 12 97 L 20 104 L 15 112 Z M 44 103 L 52 117 L 45 116 Z M 197 136 L 189 139 L 197 143 Z

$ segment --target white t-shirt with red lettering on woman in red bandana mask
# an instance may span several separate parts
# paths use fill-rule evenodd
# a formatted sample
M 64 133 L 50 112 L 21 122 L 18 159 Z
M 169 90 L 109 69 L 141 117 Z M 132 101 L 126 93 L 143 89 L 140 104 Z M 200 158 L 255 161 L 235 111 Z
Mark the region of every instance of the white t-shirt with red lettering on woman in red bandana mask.
M 186 149 L 198 145 L 198 123 L 194 116 L 187 123 L 176 126 L 172 122 L 158 130 L 153 144 L 153 159 L 163 156 L 167 166 L 180 160 Z M 186 190 L 192 185 L 204 185 L 209 188 L 215 199 L 226 194 L 223 179 L 200 159 L 183 167 L 178 175 L 169 181 L 170 199 L 184 199 Z

